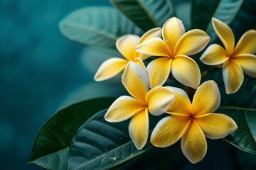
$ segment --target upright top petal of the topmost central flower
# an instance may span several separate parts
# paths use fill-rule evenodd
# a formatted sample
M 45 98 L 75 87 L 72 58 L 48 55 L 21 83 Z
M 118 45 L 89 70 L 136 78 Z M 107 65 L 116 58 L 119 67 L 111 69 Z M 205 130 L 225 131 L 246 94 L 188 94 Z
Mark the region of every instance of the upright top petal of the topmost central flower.
M 185 33 L 185 28 L 181 20 L 176 17 L 171 17 L 164 23 L 163 30 L 164 42 L 168 45 L 171 54 L 174 55 L 174 48 L 178 39 Z

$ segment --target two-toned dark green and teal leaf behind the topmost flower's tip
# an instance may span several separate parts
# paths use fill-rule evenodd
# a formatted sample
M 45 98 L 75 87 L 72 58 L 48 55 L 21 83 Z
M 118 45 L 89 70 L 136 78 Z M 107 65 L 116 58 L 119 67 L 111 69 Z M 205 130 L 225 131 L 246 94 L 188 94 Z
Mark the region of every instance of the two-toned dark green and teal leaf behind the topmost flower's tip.
M 171 0 L 110 0 L 112 4 L 132 20 L 139 28 L 146 31 L 163 26 L 174 16 Z

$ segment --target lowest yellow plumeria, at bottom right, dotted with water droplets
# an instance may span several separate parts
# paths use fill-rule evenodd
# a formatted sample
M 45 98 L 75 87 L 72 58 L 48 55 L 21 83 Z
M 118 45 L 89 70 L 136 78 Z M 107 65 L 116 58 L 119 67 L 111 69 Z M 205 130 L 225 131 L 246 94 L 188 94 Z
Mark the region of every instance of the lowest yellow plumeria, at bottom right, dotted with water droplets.
M 181 150 L 193 164 L 206 154 L 206 137 L 219 139 L 238 127 L 228 115 L 213 113 L 220 106 L 220 91 L 215 81 L 201 84 L 189 101 L 182 89 L 168 87 L 175 101 L 166 113 L 170 115 L 157 123 L 151 135 L 156 147 L 169 147 L 181 139 Z

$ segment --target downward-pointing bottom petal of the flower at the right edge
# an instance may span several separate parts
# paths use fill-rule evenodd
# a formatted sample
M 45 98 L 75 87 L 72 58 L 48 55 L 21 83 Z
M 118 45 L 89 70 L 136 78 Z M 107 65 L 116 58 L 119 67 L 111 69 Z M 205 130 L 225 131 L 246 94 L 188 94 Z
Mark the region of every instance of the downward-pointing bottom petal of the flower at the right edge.
M 240 86 L 242 86 L 243 79 L 244 75 L 241 67 L 238 64 L 236 64 L 232 60 L 224 62 L 223 80 L 226 94 L 234 94 L 236 91 L 238 91 L 238 89 L 240 89 Z

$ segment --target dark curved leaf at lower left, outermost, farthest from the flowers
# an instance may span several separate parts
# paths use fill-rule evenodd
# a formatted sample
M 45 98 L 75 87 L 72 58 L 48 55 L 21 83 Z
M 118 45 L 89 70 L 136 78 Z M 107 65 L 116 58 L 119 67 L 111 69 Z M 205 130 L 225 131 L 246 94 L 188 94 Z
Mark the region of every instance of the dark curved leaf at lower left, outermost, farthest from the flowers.
M 114 98 L 96 98 L 63 108 L 41 128 L 33 146 L 29 164 L 47 169 L 63 169 L 67 165 L 68 147 L 75 132 L 92 115 L 108 108 Z

